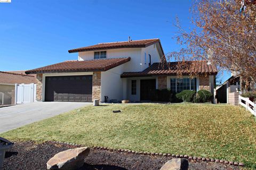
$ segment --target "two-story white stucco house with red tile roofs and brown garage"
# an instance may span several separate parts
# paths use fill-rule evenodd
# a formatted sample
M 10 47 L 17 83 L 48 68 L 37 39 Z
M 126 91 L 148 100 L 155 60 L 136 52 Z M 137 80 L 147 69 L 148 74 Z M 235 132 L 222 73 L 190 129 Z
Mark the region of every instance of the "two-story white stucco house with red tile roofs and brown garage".
M 206 89 L 213 93 L 217 74 L 215 66 L 202 61 L 190 63 L 181 79 L 177 78 L 175 66 L 162 69 L 159 62 L 164 52 L 159 39 L 101 43 L 71 49 L 69 53 L 78 53 L 78 60 L 26 71 L 37 74 L 37 100 L 104 102 L 107 96 L 108 101 L 143 101 L 149 100 L 152 90 L 166 88 L 175 92 Z M 198 76 L 190 79 L 190 73 Z

